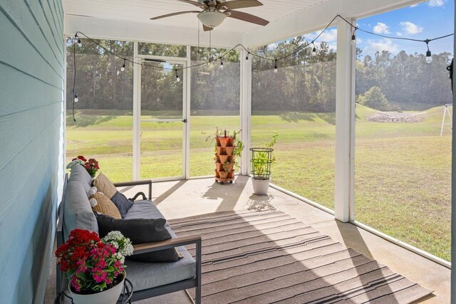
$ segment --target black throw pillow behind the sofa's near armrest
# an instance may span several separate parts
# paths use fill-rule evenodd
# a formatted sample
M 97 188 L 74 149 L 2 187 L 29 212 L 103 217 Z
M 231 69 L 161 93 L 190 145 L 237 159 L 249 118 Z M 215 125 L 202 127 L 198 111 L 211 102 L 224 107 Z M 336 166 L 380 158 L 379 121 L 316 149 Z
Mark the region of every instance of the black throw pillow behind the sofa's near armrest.
M 103 214 L 97 215 L 98 234 L 103 238 L 110 231 L 118 230 L 128 237 L 133 245 L 166 241 L 172 238 L 167 231 L 165 219 L 113 219 Z M 136 254 L 127 258 L 141 262 L 175 262 L 182 256 L 176 248 L 163 249 L 148 253 Z

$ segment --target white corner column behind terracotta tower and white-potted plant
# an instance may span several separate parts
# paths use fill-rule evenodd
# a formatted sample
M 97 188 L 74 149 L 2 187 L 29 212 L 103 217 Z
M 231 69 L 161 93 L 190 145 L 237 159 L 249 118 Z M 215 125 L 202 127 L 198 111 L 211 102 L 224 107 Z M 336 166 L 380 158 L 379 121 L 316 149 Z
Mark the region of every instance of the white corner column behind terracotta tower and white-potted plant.
M 252 56 L 246 61 L 247 51 L 241 49 L 241 129 L 244 151 L 242 152 L 241 174 L 250 174 L 250 133 L 252 130 Z

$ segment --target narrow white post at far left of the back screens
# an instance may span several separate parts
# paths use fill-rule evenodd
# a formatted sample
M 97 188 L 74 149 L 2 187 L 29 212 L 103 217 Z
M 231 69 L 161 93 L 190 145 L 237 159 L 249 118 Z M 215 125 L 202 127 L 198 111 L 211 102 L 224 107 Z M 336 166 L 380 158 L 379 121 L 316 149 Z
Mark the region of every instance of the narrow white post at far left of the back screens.
M 133 61 L 140 63 L 138 42 L 133 43 Z M 141 153 L 141 65 L 133 64 L 133 180 L 140 179 Z

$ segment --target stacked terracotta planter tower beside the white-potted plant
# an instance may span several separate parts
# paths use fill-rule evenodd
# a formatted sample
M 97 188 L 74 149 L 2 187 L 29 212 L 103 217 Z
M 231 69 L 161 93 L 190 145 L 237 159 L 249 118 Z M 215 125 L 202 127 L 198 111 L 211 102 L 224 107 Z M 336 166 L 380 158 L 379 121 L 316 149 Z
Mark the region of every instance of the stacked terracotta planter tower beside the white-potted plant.
M 215 180 L 221 184 L 224 182 L 232 184 L 234 179 L 234 137 L 217 136 L 215 142 L 217 150 L 215 153 Z

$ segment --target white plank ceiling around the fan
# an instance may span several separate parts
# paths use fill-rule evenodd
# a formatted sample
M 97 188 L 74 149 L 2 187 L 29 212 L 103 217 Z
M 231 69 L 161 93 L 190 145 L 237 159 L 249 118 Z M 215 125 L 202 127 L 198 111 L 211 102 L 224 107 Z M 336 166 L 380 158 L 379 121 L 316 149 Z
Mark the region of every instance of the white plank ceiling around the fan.
M 197 1 L 197 0 L 195 0 Z M 238 9 L 274 23 L 299 11 L 328 0 L 260 0 L 263 6 Z M 197 11 L 199 8 L 177 0 L 63 0 L 66 15 L 88 16 L 98 19 L 133 21 L 159 26 L 197 28 L 197 14 L 183 14 L 151 21 L 150 18 L 177 11 Z M 227 18 L 218 31 L 244 33 L 258 27 L 237 19 Z

